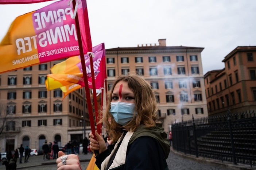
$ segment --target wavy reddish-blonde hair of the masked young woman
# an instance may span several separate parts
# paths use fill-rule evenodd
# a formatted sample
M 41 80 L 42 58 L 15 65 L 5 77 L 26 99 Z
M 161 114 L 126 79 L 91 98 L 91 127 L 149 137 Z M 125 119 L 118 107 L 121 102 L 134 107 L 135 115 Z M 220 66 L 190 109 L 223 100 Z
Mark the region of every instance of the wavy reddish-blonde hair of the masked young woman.
M 134 114 L 132 120 L 125 126 L 117 124 L 113 116 L 109 113 L 113 89 L 119 81 L 127 82 L 128 87 L 134 93 L 135 112 L 138 113 L 137 116 Z M 120 135 L 123 133 L 122 129 L 136 131 L 141 124 L 145 125 L 147 128 L 160 124 L 161 122 L 158 121 L 158 107 L 155 93 L 148 82 L 136 73 L 119 76 L 113 83 L 105 113 L 99 123 L 104 123 L 106 131 L 113 141 L 119 139 Z

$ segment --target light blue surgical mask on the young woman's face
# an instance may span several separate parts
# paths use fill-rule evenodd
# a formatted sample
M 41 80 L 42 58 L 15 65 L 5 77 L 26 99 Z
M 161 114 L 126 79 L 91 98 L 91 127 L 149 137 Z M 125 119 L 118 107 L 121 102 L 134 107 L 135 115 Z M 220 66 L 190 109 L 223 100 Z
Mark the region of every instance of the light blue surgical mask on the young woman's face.
M 135 104 L 125 102 L 110 102 L 110 114 L 115 121 L 120 125 L 126 125 L 132 120 L 134 114 Z M 137 115 L 137 114 L 136 114 Z

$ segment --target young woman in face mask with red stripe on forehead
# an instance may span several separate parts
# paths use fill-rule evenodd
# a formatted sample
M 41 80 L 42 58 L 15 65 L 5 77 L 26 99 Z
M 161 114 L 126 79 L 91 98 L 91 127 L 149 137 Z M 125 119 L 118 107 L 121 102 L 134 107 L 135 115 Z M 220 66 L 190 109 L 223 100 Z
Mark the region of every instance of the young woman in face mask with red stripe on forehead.
M 90 149 L 98 150 L 96 165 L 101 170 L 168 170 L 170 151 L 167 134 L 161 128 L 154 91 L 137 74 L 119 76 L 110 92 L 106 112 L 101 120 L 117 141 L 113 150 L 106 147 L 97 130 L 90 133 Z M 77 157 L 57 159 L 59 169 L 75 168 Z M 70 160 L 70 161 L 69 161 Z M 79 164 L 79 163 L 78 163 Z

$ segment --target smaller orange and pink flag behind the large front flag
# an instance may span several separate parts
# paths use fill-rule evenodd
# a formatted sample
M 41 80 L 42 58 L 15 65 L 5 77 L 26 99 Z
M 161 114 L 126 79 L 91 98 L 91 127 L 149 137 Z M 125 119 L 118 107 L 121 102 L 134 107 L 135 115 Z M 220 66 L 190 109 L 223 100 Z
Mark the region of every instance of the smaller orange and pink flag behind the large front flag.
M 93 53 L 93 68 L 96 82 L 95 87 L 96 89 L 104 88 L 104 80 L 106 78 L 104 43 L 93 47 Z M 89 88 L 92 89 L 89 55 L 85 54 L 84 58 L 86 61 L 85 65 Z M 66 97 L 70 92 L 85 86 L 80 56 L 67 58 L 67 60 L 54 65 L 51 68 L 51 72 L 53 74 L 48 74 L 47 80 L 45 81 L 47 90 L 61 88 L 64 93 L 64 97 Z

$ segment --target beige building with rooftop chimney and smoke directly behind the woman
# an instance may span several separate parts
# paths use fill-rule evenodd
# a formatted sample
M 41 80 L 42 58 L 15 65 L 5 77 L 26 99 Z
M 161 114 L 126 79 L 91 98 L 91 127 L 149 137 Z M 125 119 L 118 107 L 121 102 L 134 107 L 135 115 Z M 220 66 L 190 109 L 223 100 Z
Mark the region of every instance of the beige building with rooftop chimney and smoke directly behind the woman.
M 172 123 L 207 117 L 201 52 L 203 48 L 159 45 L 106 49 L 108 89 L 120 74 L 137 72 L 151 84 L 165 131 Z

